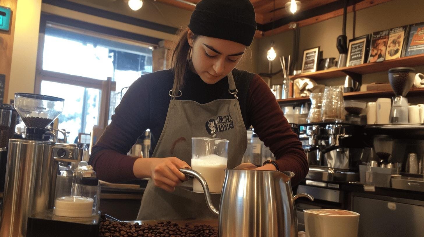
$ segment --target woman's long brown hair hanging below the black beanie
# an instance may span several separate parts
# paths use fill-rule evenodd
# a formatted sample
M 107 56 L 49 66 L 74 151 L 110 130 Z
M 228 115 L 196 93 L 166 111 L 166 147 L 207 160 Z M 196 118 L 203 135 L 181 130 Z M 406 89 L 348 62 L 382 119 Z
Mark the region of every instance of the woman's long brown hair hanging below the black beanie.
M 179 35 L 179 40 L 176 41 L 176 45 L 172 52 L 172 58 L 170 60 L 170 68 L 172 68 L 174 73 L 175 85 L 172 88 L 172 95 L 179 95 L 179 91 L 183 88 L 184 85 L 184 76 L 189 64 L 189 56 L 191 51 L 191 46 L 187 39 L 188 28 L 181 30 Z M 195 41 L 198 35 L 193 33 L 191 39 Z

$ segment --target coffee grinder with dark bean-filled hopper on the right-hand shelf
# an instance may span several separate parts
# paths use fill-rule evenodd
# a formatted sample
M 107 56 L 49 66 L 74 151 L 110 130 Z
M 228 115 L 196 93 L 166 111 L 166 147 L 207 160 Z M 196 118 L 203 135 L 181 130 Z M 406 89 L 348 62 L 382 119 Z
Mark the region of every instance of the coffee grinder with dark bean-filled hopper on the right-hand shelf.
M 395 97 L 390 114 L 392 124 L 408 123 L 408 100 L 405 97 L 414 84 L 415 69 L 410 67 L 395 67 L 388 71 L 389 82 Z

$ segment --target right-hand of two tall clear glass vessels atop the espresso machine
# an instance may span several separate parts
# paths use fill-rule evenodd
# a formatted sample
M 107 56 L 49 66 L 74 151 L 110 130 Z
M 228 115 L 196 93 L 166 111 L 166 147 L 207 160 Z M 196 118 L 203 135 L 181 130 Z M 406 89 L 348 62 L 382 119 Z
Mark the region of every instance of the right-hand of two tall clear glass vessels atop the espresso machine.
M 325 87 L 321 116 L 324 122 L 342 122 L 344 120 L 343 90 L 340 86 Z

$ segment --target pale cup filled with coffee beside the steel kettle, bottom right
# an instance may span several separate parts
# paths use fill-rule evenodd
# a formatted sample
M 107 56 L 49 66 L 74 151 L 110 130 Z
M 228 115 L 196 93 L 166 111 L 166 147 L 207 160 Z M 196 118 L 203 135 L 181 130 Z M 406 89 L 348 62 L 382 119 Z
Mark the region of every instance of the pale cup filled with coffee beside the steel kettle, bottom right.
M 338 209 L 304 210 L 307 237 L 357 237 L 359 213 Z

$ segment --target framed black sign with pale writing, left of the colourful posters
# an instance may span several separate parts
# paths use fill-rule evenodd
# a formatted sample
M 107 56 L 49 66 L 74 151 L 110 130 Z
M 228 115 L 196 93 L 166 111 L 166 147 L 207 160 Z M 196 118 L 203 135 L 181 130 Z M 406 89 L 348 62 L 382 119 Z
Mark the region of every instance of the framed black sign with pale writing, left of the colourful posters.
M 360 36 L 349 40 L 346 66 L 356 66 L 365 63 L 369 36 Z

